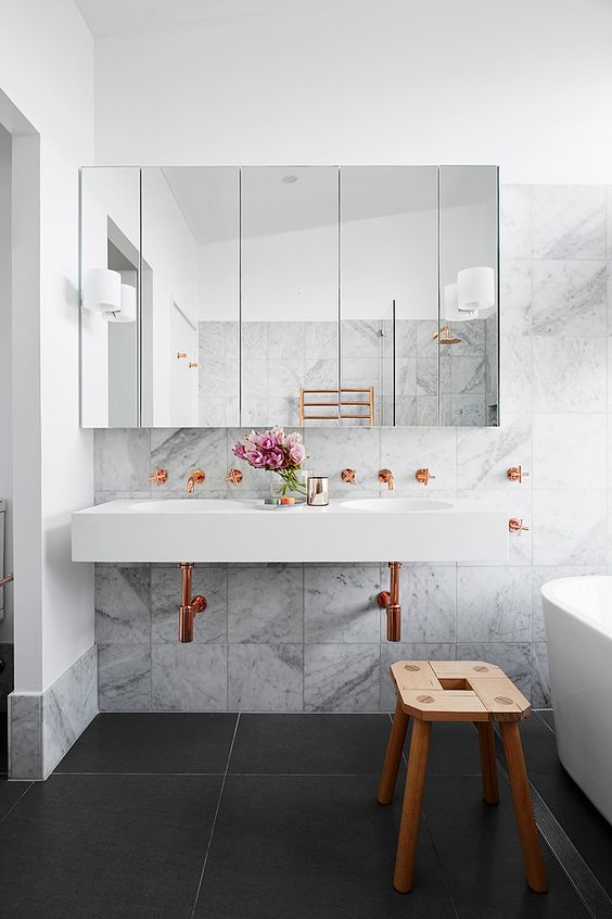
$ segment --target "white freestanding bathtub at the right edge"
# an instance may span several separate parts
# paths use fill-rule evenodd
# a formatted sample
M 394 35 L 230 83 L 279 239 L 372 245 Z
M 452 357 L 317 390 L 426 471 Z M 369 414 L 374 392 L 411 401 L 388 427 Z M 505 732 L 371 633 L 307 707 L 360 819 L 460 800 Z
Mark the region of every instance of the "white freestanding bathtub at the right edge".
M 612 823 L 612 576 L 541 588 L 559 758 Z

